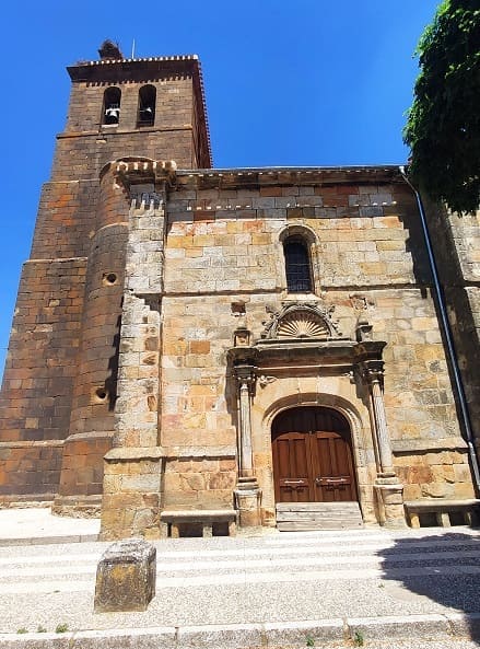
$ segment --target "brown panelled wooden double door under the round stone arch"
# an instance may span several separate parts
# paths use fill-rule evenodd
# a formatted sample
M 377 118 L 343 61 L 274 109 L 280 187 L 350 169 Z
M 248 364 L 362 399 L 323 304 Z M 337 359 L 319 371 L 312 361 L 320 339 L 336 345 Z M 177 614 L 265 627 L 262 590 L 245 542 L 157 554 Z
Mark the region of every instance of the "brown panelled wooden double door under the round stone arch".
M 272 425 L 277 502 L 356 500 L 348 421 L 331 408 L 284 410 Z

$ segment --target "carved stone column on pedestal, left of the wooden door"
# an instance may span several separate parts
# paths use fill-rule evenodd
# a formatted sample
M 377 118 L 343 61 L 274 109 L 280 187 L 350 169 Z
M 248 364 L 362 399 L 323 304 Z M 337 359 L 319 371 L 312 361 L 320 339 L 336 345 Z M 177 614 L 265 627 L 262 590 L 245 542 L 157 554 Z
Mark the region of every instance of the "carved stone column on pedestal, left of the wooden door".
M 249 364 L 236 366 L 234 375 L 238 389 L 238 482 L 235 502 L 239 526 L 255 528 L 261 524 L 261 491 L 255 477 L 251 452 L 250 399 L 255 387 L 255 371 Z

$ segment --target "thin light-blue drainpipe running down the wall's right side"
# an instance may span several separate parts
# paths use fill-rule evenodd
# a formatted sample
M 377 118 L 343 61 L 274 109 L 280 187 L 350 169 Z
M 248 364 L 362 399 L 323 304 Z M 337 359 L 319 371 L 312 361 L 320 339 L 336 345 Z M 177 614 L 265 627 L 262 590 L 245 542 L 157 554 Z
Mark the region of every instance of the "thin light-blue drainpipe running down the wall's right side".
M 477 452 L 475 449 L 475 444 L 473 444 L 475 438 L 473 438 L 473 432 L 471 430 L 470 415 L 468 412 L 467 398 L 465 396 L 464 382 L 461 380 L 460 370 L 458 368 L 458 360 L 457 360 L 457 354 L 455 351 L 454 339 L 453 339 L 453 335 L 452 335 L 452 327 L 450 327 L 450 323 L 448 321 L 448 315 L 447 315 L 447 311 L 446 311 L 446 306 L 445 306 L 445 298 L 443 294 L 442 285 L 440 283 L 438 270 L 436 267 L 435 256 L 433 254 L 432 240 L 430 239 L 430 232 L 429 232 L 429 227 L 426 224 L 425 211 L 423 209 L 422 199 L 420 197 L 418 189 L 415 189 L 413 187 L 413 185 L 410 183 L 410 181 L 408 179 L 408 177 L 405 173 L 405 166 L 399 166 L 398 169 L 399 169 L 400 174 L 403 177 L 405 182 L 407 183 L 407 185 L 411 188 L 411 190 L 415 195 L 417 205 L 419 207 L 420 222 L 422 224 L 423 236 L 425 239 L 425 245 L 426 245 L 426 253 L 429 255 L 430 268 L 432 270 L 433 286 L 434 286 L 434 290 L 435 290 L 436 302 L 437 302 L 438 309 L 440 309 L 442 329 L 443 329 L 443 334 L 444 334 L 444 337 L 445 337 L 445 340 L 447 344 L 448 360 L 450 361 L 450 367 L 453 369 L 455 390 L 456 390 L 456 393 L 458 396 L 458 402 L 460 404 L 460 414 L 461 414 L 461 420 L 464 424 L 465 434 L 467 438 L 466 441 L 467 441 L 467 447 L 468 447 L 468 453 L 470 456 L 471 467 L 473 471 L 473 478 L 475 478 L 475 484 L 476 484 L 476 488 L 477 488 L 477 494 L 480 495 L 479 459 L 478 459 L 478 455 L 477 455 Z

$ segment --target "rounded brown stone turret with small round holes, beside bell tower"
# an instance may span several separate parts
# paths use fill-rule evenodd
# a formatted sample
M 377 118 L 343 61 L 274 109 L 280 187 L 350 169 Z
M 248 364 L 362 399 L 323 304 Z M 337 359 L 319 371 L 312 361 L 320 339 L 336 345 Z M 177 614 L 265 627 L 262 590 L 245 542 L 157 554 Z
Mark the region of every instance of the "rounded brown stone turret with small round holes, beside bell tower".
M 114 186 L 109 167 L 102 174 L 96 231 L 86 266 L 69 437 L 63 445 L 60 485 L 54 503 L 57 513 L 82 508 L 91 511 L 95 500 L 98 508 L 103 457 L 114 436 L 128 200 L 121 188 Z

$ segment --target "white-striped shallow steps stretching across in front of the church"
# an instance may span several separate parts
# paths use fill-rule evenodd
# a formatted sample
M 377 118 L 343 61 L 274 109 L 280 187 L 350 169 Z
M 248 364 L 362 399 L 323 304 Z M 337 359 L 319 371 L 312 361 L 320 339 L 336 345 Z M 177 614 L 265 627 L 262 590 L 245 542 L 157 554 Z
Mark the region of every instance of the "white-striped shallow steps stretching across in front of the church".
M 281 538 L 288 542 L 279 544 Z M 361 577 L 359 570 L 362 568 L 367 569 L 371 576 L 381 576 L 385 570 L 407 573 L 411 569 L 418 570 L 415 566 L 422 566 L 429 575 L 445 575 L 445 570 L 450 573 L 477 573 L 479 570 L 480 542 L 475 537 L 463 541 L 453 541 L 448 536 L 423 541 L 410 538 L 408 542 L 403 540 L 401 546 L 386 535 L 366 534 L 368 543 L 361 543 L 361 533 L 352 532 L 335 536 L 316 533 L 312 537 L 315 545 L 309 545 L 302 542 L 302 534 L 292 533 L 286 537 L 278 535 L 259 540 L 259 547 L 245 547 L 245 541 L 237 538 L 232 543 L 226 542 L 222 549 L 212 544 L 210 549 L 198 551 L 192 547 L 171 552 L 166 549 L 168 543 L 161 542 L 156 544 L 159 587 L 176 587 L 180 583 L 194 586 L 201 581 L 207 583 L 210 581 L 209 573 L 215 575 L 216 580 L 219 572 L 223 573 L 221 582 L 227 584 L 229 579 L 236 582 L 237 577 L 251 581 L 304 580 L 308 579 L 307 572 L 315 572 L 318 579 L 325 579 L 329 572 L 337 572 L 339 578 L 342 575 L 356 579 Z M 178 544 L 175 545 L 178 547 Z M 82 590 L 82 581 L 86 587 L 89 580 L 94 579 L 104 549 L 101 544 L 91 547 L 92 552 L 72 555 L 60 552 L 59 547 L 59 552 L 44 556 L 43 561 L 38 561 L 42 557 L 28 552 L 17 557 L 2 557 L 2 591 L 27 592 L 28 583 L 38 581 L 42 581 L 44 592 L 55 590 L 54 582 L 62 591 Z M 354 554 L 351 547 L 355 547 Z M 465 565 L 456 566 L 457 559 L 461 559 Z M 290 576 L 285 577 L 285 572 Z

